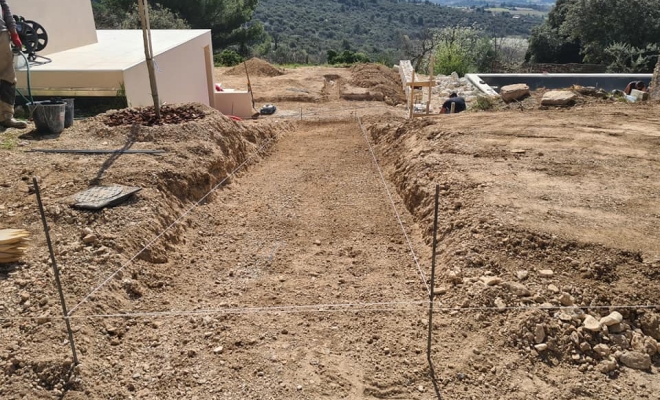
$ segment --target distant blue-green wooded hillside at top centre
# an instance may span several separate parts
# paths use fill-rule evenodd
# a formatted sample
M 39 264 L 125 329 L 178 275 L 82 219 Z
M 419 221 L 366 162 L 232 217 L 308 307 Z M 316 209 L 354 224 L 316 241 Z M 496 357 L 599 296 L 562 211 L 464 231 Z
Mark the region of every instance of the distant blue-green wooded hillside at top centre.
M 327 50 L 347 48 L 389 63 L 401 57 L 404 36 L 414 39 L 426 28 L 471 26 L 494 37 L 528 37 L 543 22 L 539 16 L 513 18 L 483 7 L 397 0 L 261 0 L 254 20 L 272 37 L 270 52 L 261 56 L 280 63 L 322 63 Z

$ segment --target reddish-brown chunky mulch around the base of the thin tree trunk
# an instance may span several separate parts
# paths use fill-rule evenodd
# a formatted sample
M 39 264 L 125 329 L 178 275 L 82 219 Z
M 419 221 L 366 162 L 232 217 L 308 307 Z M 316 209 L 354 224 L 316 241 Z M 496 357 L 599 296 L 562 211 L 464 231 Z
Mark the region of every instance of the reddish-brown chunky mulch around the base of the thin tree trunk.
M 182 122 L 204 118 L 206 114 L 199 105 L 185 104 L 180 106 L 163 106 L 160 109 L 160 115 L 161 119 L 159 121 L 156 119 L 156 110 L 154 107 L 126 108 L 108 114 L 105 117 L 105 124 L 108 126 L 180 124 Z

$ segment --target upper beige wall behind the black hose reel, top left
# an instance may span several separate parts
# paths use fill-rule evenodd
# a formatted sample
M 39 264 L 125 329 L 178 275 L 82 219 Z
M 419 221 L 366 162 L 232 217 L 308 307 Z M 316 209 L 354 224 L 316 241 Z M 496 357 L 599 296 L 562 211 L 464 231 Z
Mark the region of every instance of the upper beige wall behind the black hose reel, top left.
M 8 0 L 13 14 L 38 22 L 48 34 L 48 45 L 39 54 L 96 43 L 96 26 L 90 0 Z

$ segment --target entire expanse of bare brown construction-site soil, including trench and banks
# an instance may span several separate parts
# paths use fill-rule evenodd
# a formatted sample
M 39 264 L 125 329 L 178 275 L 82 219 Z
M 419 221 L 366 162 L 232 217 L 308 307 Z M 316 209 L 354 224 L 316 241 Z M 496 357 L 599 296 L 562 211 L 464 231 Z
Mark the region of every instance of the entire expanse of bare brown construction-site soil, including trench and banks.
M 0 398 L 658 398 L 658 103 L 409 120 L 343 97 L 375 92 L 357 68 L 284 72 L 258 120 L 0 134 L 0 229 L 31 233 L 0 265 Z M 142 190 L 70 206 L 99 184 Z

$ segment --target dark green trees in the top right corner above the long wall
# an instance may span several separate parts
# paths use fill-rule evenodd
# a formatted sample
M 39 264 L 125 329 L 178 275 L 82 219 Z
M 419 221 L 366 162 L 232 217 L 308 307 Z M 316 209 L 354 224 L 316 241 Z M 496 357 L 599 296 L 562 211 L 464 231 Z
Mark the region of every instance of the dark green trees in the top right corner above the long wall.
M 557 0 L 546 22 L 533 30 L 527 58 L 650 72 L 659 42 L 658 0 Z

